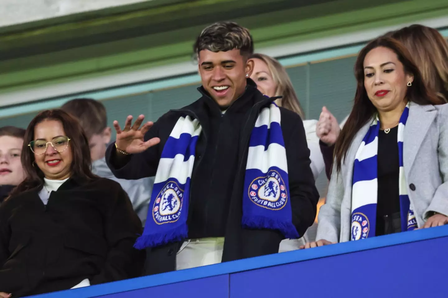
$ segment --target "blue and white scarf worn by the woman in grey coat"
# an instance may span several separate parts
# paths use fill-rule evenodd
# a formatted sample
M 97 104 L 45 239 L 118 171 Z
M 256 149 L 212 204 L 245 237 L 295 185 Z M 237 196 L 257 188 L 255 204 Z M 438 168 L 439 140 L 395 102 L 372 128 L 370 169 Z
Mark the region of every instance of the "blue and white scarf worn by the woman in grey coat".
M 414 212 L 410 207 L 403 168 L 403 133 L 409 116 L 409 103 L 398 123 L 399 193 L 401 231 L 411 231 L 417 227 Z M 375 236 L 376 204 L 378 200 L 378 134 L 379 119 L 376 117 L 362 140 L 353 165 L 351 240 Z

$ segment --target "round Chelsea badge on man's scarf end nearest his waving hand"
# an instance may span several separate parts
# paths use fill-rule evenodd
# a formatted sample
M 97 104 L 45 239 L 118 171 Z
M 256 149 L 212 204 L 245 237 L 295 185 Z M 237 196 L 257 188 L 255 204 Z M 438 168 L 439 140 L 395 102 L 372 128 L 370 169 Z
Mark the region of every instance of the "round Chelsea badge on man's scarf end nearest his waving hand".
M 168 181 L 154 200 L 152 217 L 158 225 L 176 222 L 182 211 L 184 191 L 174 181 Z

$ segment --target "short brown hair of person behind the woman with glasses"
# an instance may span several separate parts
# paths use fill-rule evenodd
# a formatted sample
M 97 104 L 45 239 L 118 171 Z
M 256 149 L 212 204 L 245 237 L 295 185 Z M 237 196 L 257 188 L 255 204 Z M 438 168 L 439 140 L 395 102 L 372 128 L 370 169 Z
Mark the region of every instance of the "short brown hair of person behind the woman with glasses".
M 78 119 L 87 139 L 90 139 L 94 134 L 101 134 L 107 127 L 106 108 L 94 99 L 76 98 L 67 101 L 61 109 Z

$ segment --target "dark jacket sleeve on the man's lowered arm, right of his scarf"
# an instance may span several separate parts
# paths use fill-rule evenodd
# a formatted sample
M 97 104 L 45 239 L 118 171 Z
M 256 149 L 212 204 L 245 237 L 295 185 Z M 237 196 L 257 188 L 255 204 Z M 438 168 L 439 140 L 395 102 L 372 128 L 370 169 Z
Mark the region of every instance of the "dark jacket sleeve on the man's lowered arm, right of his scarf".
M 288 118 L 285 124 L 291 129 L 289 135 L 284 136 L 284 143 L 288 160 L 289 194 L 293 224 L 299 235 L 303 236 L 316 218 L 319 193 L 310 168 L 310 150 L 306 143 L 302 119 L 298 115 L 296 117 L 295 114 Z M 283 119 L 282 115 L 282 129 Z

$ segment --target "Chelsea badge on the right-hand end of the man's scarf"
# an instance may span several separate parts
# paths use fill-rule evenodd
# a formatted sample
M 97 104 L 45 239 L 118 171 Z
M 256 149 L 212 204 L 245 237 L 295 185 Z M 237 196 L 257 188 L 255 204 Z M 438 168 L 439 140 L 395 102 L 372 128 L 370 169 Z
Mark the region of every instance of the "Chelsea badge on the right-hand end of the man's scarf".
M 250 200 L 263 208 L 280 210 L 288 201 L 283 178 L 276 170 L 270 170 L 264 177 L 255 178 L 249 185 Z

